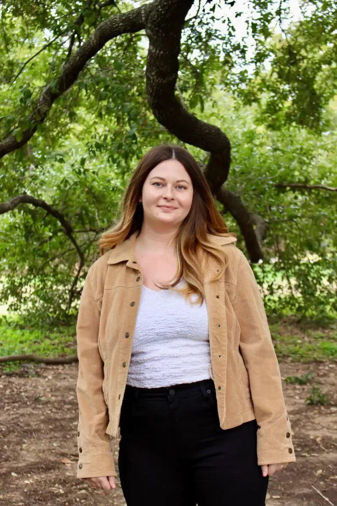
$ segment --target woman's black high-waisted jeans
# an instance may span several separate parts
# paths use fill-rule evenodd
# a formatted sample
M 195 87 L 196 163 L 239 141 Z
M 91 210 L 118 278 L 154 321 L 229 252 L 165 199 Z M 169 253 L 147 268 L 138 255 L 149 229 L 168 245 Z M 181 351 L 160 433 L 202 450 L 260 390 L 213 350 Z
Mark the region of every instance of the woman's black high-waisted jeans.
M 127 506 L 264 506 L 257 422 L 220 428 L 212 379 L 126 386 L 118 467 Z

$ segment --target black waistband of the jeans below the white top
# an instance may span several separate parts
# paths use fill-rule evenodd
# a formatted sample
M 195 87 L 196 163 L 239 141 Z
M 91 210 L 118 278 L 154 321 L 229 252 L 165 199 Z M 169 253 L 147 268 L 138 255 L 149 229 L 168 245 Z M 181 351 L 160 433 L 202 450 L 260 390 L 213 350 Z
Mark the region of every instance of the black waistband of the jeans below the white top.
M 143 387 L 132 387 L 126 385 L 125 395 L 131 397 L 171 397 L 171 396 L 184 396 L 190 395 L 202 391 L 203 395 L 207 397 L 209 392 L 207 390 L 215 389 L 213 379 L 202 379 L 198 382 L 193 383 L 180 383 L 178 385 L 172 385 L 170 387 L 158 387 L 158 388 L 143 388 Z

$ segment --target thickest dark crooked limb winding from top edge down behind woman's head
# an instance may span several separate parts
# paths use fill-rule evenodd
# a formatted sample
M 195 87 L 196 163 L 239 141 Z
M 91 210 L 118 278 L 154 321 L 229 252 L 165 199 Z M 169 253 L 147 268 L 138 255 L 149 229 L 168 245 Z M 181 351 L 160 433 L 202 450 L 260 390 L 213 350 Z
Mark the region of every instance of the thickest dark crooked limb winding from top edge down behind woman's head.
M 204 173 L 211 191 L 237 221 L 250 259 L 257 262 L 263 258 L 263 252 L 251 214 L 238 196 L 222 188 L 230 166 L 229 139 L 217 126 L 201 121 L 185 110 L 175 96 L 181 31 L 192 3 L 192 0 L 157 0 L 156 8 L 149 13 L 146 24 L 149 37 L 146 68 L 148 101 L 157 120 L 170 133 L 182 142 L 210 153 Z

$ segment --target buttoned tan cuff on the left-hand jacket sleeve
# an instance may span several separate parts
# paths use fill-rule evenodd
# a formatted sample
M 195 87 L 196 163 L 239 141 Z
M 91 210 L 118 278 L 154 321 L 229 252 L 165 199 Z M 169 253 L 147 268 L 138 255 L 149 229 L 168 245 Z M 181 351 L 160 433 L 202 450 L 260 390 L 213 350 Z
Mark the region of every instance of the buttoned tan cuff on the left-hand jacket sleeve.
M 77 478 L 98 478 L 99 476 L 117 476 L 111 442 L 95 440 L 77 429 Z

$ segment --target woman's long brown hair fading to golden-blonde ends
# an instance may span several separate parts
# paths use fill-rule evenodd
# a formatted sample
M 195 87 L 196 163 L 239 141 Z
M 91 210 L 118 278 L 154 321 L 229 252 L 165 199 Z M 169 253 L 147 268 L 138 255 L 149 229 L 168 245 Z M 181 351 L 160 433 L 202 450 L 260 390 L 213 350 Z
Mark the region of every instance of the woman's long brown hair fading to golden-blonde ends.
M 148 151 L 138 163 L 125 190 L 122 201 L 121 217 L 116 225 L 101 235 L 99 244 L 102 255 L 106 248 L 114 248 L 137 230 L 140 231 L 143 221 L 142 205 L 137 205 L 142 193 L 142 186 L 148 174 L 160 162 L 176 159 L 186 169 L 193 185 L 193 198 L 188 215 L 182 222 L 175 236 L 175 252 L 177 258 L 177 273 L 175 281 L 161 283 L 162 288 L 173 289 L 180 280 L 185 280 L 187 286 L 179 291 L 189 298 L 193 293 L 198 294 L 195 303 L 204 301 L 202 258 L 212 256 L 219 262 L 219 273 L 213 280 L 224 275 L 227 258 L 223 248 L 211 243 L 207 235 L 232 235 L 229 233 L 222 216 L 215 206 L 212 193 L 206 178 L 195 158 L 184 148 L 175 145 L 160 145 Z M 174 288 L 175 289 L 175 288 Z M 178 289 L 175 289 L 178 290 Z

